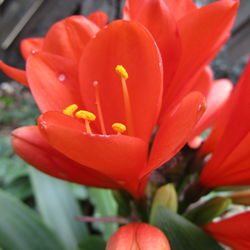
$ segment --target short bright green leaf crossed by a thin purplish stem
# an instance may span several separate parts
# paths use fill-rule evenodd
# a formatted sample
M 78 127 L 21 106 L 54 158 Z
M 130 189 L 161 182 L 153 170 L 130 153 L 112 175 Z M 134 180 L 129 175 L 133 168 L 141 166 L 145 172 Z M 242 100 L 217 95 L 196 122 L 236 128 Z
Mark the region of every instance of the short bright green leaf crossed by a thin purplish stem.
M 110 190 L 90 188 L 90 199 L 95 205 L 95 216 L 109 217 L 117 216 L 117 204 Z M 113 232 L 118 228 L 117 223 L 99 223 L 99 228 L 102 230 L 104 238 L 107 240 Z

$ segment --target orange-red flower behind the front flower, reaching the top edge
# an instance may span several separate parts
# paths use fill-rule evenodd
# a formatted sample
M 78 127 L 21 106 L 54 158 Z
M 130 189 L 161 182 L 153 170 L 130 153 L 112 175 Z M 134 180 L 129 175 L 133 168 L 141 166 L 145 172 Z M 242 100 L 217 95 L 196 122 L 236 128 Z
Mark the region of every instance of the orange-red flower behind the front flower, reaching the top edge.
M 232 84 L 213 81 L 205 66 L 229 38 L 239 1 L 223 0 L 197 8 L 192 0 L 127 0 L 124 18 L 143 24 L 154 36 L 164 69 L 164 113 L 185 95 L 198 90 L 207 101 L 193 137 L 216 120 Z M 162 115 L 163 117 L 163 115 Z

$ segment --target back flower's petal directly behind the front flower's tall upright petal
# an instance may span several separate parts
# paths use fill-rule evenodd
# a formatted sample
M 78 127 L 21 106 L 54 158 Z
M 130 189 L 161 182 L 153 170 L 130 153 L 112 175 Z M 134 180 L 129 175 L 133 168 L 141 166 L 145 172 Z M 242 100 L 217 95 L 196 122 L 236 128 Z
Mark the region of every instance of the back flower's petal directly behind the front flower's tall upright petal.
M 181 56 L 181 40 L 174 16 L 164 0 L 128 0 L 125 11 L 129 20 L 143 24 L 156 40 L 163 60 L 165 85 L 168 85 Z

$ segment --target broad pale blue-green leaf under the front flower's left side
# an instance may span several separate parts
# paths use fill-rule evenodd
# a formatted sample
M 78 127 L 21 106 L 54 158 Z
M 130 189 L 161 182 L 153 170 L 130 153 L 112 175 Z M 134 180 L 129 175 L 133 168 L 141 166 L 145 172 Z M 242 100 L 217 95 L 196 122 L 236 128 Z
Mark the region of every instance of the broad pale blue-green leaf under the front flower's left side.
M 30 177 L 38 210 L 44 221 L 64 242 L 67 249 L 78 249 L 78 242 L 88 233 L 84 222 L 76 219 L 82 213 L 69 183 L 33 168 L 30 168 Z

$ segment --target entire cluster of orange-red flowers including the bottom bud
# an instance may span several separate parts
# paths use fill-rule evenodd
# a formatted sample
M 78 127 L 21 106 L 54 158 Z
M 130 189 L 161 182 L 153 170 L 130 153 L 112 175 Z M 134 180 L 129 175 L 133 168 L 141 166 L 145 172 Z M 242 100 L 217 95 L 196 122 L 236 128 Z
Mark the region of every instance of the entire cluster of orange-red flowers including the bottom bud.
M 103 12 L 71 16 L 44 38 L 23 40 L 26 70 L 0 67 L 30 88 L 42 114 L 37 126 L 13 131 L 15 152 L 56 178 L 140 200 L 152 171 L 188 143 L 200 148 L 202 167 L 185 202 L 215 187 L 249 185 L 250 63 L 235 88 L 214 80 L 208 66 L 229 38 L 238 5 L 127 0 L 122 20 L 107 24 Z M 244 212 L 202 228 L 235 249 L 250 249 L 249 220 Z M 170 249 L 149 224 L 122 227 L 107 249 L 126 244 Z

